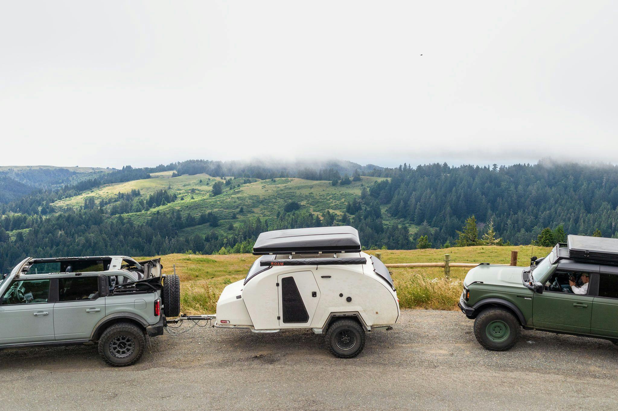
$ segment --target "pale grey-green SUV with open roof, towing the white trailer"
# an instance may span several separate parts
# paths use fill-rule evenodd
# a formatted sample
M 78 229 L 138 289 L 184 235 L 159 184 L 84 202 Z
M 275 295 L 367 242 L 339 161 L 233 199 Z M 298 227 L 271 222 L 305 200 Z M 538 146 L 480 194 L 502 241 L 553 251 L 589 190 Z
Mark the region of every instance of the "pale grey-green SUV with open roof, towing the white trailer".
M 28 257 L 0 280 L 0 348 L 98 344 L 109 364 L 131 365 L 146 334 L 179 315 L 179 278 L 162 268 L 122 255 Z

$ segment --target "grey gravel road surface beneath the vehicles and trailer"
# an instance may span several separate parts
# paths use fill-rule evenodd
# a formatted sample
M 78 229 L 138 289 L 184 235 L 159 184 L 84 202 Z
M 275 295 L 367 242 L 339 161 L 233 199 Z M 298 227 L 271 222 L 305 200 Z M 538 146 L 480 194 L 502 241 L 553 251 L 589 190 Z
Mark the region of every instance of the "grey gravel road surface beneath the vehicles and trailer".
M 523 331 L 482 349 L 460 312 L 404 310 L 355 359 L 311 331 L 194 327 L 151 339 L 137 365 L 93 346 L 0 351 L 2 410 L 616 410 L 618 347 Z M 180 330 L 188 328 L 182 326 Z

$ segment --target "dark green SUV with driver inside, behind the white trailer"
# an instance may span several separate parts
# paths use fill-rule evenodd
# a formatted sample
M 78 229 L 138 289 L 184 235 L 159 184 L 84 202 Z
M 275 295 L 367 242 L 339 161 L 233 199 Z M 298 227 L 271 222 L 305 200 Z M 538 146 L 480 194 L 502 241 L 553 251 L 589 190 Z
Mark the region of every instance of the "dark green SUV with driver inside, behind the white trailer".
M 459 307 L 481 346 L 504 351 L 521 328 L 618 341 L 618 239 L 570 235 L 530 267 L 481 264 Z

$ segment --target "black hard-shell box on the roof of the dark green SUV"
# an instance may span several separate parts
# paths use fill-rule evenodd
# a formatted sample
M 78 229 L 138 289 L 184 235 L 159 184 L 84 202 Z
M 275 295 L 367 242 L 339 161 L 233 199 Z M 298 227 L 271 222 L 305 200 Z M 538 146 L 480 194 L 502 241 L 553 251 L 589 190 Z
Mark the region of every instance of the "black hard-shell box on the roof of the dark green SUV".
M 569 258 L 596 264 L 618 265 L 618 239 L 570 235 Z

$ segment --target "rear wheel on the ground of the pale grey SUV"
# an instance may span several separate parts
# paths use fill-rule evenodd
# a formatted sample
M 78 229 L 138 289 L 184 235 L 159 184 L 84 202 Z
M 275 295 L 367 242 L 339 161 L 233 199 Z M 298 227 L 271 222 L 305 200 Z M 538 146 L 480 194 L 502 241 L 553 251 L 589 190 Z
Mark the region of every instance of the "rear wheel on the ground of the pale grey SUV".
M 99 355 L 109 365 L 126 367 L 142 357 L 145 346 L 146 338 L 137 325 L 116 323 L 101 334 Z

